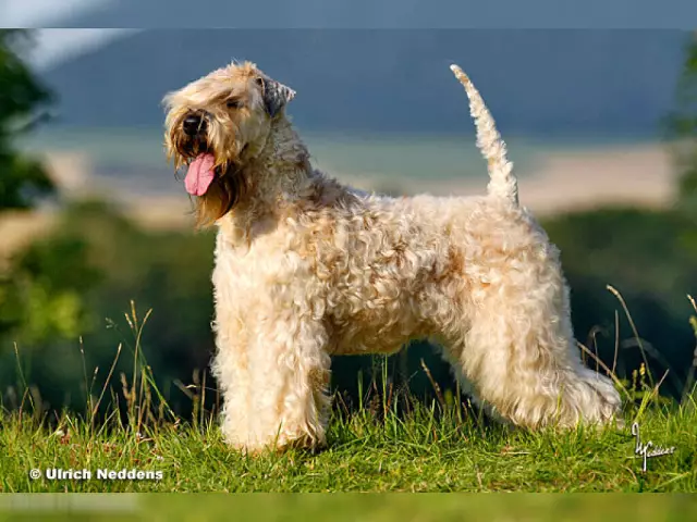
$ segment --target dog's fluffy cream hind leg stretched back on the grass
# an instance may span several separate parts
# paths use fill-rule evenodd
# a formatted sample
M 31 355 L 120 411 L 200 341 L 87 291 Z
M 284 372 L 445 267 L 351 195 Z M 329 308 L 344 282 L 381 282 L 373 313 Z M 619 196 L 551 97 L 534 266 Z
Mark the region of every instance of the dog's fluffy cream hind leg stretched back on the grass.
M 494 417 L 530 428 L 604 424 L 620 407 L 611 381 L 585 368 L 554 263 L 508 271 L 478 293 L 448 359 Z

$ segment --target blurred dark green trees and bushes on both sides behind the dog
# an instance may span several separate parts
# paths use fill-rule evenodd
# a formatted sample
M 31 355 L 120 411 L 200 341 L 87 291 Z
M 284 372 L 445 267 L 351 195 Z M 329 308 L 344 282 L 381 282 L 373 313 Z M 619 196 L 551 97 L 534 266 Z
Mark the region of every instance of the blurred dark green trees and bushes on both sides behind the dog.
M 12 142 L 52 101 L 20 59 L 26 42 L 24 33 L 0 32 L 0 212 L 28 208 L 52 189 L 40 165 Z M 632 312 L 655 374 L 670 368 L 663 389 L 673 396 L 682 393 L 692 364 L 695 337 L 686 294 L 697 294 L 697 40 L 686 57 L 676 111 L 669 117 L 671 138 L 681 144 L 675 207 L 606 208 L 543 223 L 562 251 L 577 338 L 611 368 L 617 338 L 619 374 L 628 378 L 639 366 L 632 325 L 606 288 L 612 284 Z M 201 382 L 213 350 L 212 235 L 146 231 L 99 201 L 68 203 L 57 220 L 50 234 L 14 254 L 0 273 L 3 406 L 16 406 L 26 382 L 38 388 L 47 408 L 84 410 L 89 388 L 101 388 L 120 344 L 114 374 L 132 370 L 129 350 L 135 339 L 124 313 L 133 300 L 140 318 L 152 310 L 142 337 L 147 362 L 170 406 L 187 414 L 191 399 L 175 383 Z M 367 389 L 375 362 L 338 358 L 334 389 L 357 403 L 358 375 Z M 390 358 L 388 376 L 421 398 L 432 398 L 437 387 L 454 389 L 448 365 L 425 343 Z M 115 387 L 118 381 L 112 380 Z M 207 386 L 215 386 L 210 377 Z

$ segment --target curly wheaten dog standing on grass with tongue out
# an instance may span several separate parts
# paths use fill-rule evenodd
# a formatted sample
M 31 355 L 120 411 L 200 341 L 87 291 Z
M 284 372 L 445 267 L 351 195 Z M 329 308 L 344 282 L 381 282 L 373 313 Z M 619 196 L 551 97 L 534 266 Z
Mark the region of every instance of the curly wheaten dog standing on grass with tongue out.
M 559 251 L 519 204 L 481 96 L 456 65 L 488 162 L 487 194 L 389 198 L 314 169 L 285 114 L 295 91 L 233 62 L 164 97 L 212 272 L 221 426 L 234 448 L 326 445 L 330 356 L 428 338 L 477 403 L 539 430 L 607 425 L 610 378 L 575 345 Z

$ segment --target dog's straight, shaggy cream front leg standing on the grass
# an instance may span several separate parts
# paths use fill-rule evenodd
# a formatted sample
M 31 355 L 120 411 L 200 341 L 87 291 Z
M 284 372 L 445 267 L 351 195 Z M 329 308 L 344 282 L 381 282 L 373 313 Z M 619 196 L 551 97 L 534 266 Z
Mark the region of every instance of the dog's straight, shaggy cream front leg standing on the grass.
M 325 444 L 327 332 L 301 308 L 256 301 L 239 318 L 218 312 L 215 373 L 224 401 L 222 431 L 233 447 L 256 452 Z

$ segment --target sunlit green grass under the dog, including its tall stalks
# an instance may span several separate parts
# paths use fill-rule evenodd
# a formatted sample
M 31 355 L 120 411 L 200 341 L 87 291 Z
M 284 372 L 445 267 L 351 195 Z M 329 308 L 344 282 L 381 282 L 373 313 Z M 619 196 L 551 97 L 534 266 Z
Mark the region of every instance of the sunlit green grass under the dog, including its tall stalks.
M 616 383 L 628 405 L 624 428 L 531 433 L 493 425 L 438 389 L 432 405 L 407 397 L 398 413 L 404 401 L 383 374 L 365 406 L 335 409 L 327 449 L 247 457 L 225 446 L 215 415 L 197 406 L 206 403 L 205 383 L 189 389 L 193 420 L 170 411 L 139 347 L 147 318 L 135 307 L 126 316 L 133 371 L 121 375 L 119 395 L 108 388 L 115 361 L 101 390 L 88 386 L 85 369 L 86 415 L 46 417 L 24 383 L 21 407 L 0 414 L 0 492 L 697 492 L 697 394 L 690 384 L 680 405 L 659 398 L 663 380 L 644 365 L 634 382 Z M 122 405 L 121 415 L 112 407 L 98 421 L 109 397 Z M 633 422 L 644 442 L 675 447 L 649 459 L 646 473 L 634 455 Z M 48 480 L 53 468 L 93 476 Z M 99 469 L 161 478 L 99 480 Z M 30 470 L 42 476 L 32 480 Z

